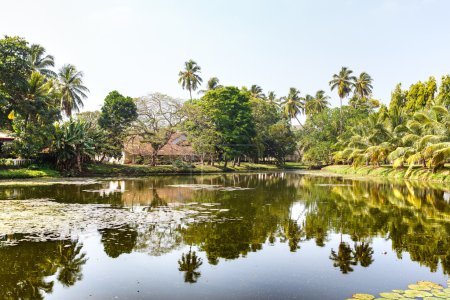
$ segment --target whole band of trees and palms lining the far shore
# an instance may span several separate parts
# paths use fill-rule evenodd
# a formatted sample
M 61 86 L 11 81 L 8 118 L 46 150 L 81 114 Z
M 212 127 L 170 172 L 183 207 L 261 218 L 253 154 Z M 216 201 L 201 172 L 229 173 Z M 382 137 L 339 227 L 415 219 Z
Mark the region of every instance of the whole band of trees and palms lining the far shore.
M 430 77 L 407 90 L 398 84 L 384 105 L 373 99 L 368 73 L 354 76 L 343 67 L 328 83 L 340 100 L 333 108 L 325 89 L 303 95 L 291 87 L 277 97 L 258 85 L 224 86 L 217 77 L 200 89 L 201 67 L 189 60 L 178 80 L 189 92 L 187 101 L 112 91 L 100 111 L 80 113 L 89 92 L 83 73 L 70 64 L 54 66 L 40 45 L 19 37 L 0 40 L 0 129 L 13 138 L 2 143 L 2 157 L 34 159 L 77 175 L 93 163 L 121 161 L 129 143 L 149 149 L 133 154 L 133 163 L 156 167 L 167 164 L 160 153 L 180 132 L 192 152 L 175 153 L 170 163 L 198 161 L 204 170 L 205 164 L 220 168 L 218 163 L 238 169 L 241 162 L 280 168 L 295 160 L 315 167 L 391 164 L 408 167 L 409 174 L 416 164 L 437 172 L 450 156 L 448 75 L 440 84 Z

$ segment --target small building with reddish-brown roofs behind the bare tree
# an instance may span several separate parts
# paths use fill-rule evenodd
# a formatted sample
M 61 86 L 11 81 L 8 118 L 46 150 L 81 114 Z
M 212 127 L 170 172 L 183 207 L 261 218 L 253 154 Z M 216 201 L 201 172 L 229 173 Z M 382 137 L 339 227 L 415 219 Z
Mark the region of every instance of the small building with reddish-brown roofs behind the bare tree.
M 122 163 L 149 163 L 153 152 L 152 145 L 143 141 L 142 137 L 131 137 L 125 142 Z M 177 159 L 196 161 L 198 159 L 187 136 L 181 132 L 173 133 L 167 144 L 156 155 L 159 162 L 172 162 Z

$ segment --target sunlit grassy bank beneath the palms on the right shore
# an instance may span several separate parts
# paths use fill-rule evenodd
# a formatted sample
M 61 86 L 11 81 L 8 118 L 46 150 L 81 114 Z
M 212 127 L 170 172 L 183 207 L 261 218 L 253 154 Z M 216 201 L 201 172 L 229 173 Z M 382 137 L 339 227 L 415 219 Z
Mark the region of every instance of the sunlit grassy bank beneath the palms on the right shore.
M 352 166 L 328 166 L 322 169 L 323 171 L 351 176 L 364 176 L 364 177 L 384 177 L 395 179 L 409 179 L 420 181 L 436 181 L 436 182 L 449 182 L 450 183 L 450 168 L 444 168 L 442 170 L 433 173 L 429 169 L 423 167 L 414 167 L 408 172 L 407 168 L 394 169 L 391 166 L 381 167 L 352 167 Z

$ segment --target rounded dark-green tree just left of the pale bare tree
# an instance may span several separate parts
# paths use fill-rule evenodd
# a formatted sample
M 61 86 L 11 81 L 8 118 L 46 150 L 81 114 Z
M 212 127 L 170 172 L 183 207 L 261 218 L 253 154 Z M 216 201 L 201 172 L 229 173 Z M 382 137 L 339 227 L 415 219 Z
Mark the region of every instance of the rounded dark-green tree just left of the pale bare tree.
M 107 133 L 110 156 L 115 158 L 121 156 L 125 130 L 136 118 L 137 107 L 131 97 L 124 97 L 117 91 L 112 91 L 106 96 L 98 124 Z

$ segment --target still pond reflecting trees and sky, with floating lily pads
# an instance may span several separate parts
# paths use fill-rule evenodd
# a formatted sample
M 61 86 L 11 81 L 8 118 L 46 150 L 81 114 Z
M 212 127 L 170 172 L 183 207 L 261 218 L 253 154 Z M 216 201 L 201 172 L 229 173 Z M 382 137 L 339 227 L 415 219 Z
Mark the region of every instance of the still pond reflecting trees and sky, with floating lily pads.
M 450 187 L 321 173 L 0 184 L 0 299 L 346 299 L 447 286 Z

